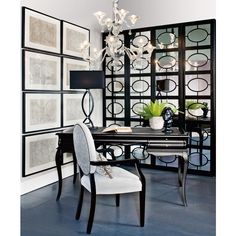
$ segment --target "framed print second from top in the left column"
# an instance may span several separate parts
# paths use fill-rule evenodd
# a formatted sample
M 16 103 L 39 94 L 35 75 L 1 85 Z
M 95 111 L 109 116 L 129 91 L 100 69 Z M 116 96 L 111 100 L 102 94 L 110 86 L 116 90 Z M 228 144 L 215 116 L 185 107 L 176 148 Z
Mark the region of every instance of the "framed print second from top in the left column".
M 23 90 L 60 90 L 61 58 L 23 51 Z

